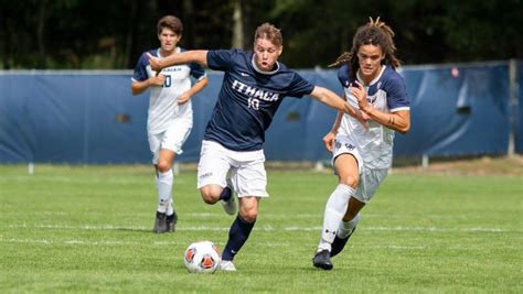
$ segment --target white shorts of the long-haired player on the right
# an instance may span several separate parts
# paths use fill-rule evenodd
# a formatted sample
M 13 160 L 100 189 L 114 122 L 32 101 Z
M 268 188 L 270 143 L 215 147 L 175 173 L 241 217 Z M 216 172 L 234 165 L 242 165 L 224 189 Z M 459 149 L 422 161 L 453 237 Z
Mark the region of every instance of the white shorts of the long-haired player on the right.
M 335 137 L 334 148 L 332 150 L 332 166 L 334 166 L 335 159 L 341 154 L 352 154 L 356 159 L 360 181 L 353 197 L 362 203 L 369 203 L 387 176 L 388 168 L 366 168 L 356 145 L 345 135 Z

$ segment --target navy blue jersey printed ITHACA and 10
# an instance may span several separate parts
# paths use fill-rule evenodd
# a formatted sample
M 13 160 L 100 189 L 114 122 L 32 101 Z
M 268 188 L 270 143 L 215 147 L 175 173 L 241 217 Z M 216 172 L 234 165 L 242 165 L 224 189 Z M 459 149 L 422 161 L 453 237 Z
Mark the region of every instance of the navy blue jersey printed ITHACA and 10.
M 241 50 L 209 51 L 207 65 L 225 75 L 204 140 L 234 151 L 263 149 L 265 131 L 281 99 L 301 98 L 314 88 L 281 63 L 271 72 L 258 69 L 254 53 Z

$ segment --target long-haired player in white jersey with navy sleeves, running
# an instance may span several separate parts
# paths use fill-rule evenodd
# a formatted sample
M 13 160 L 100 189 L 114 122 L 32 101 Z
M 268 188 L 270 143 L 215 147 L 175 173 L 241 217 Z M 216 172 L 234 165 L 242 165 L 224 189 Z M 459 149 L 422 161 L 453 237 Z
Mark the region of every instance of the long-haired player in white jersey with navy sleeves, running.
M 320 243 L 312 259 L 316 268 L 331 270 L 331 257 L 340 253 L 360 221 L 360 210 L 385 179 L 392 164 L 395 131 L 410 128 L 410 107 L 405 81 L 396 73 L 394 32 L 384 22 L 370 20 L 360 26 L 349 53 L 332 66 L 342 65 L 338 78 L 348 102 L 369 118 L 363 126 L 342 112 L 323 138 L 332 153 L 338 186 L 323 215 Z

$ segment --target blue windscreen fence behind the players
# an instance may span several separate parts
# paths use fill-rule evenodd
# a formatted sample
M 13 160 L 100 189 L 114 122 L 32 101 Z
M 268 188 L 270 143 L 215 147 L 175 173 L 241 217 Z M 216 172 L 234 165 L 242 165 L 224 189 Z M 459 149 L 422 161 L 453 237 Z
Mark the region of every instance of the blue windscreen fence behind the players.
M 394 155 L 523 153 L 522 62 L 401 68 L 412 102 L 412 129 L 396 134 Z M 196 162 L 223 74 L 192 99 L 194 126 L 179 156 Z M 341 94 L 335 70 L 300 70 Z M 0 163 L 149 163 L 149 94 L 132 96 L 130 70 L 0 72 Z M 267 131 L 269 161 L 329 160 L 321 141 L 337 111 L 303 97 L 285 98 Z

